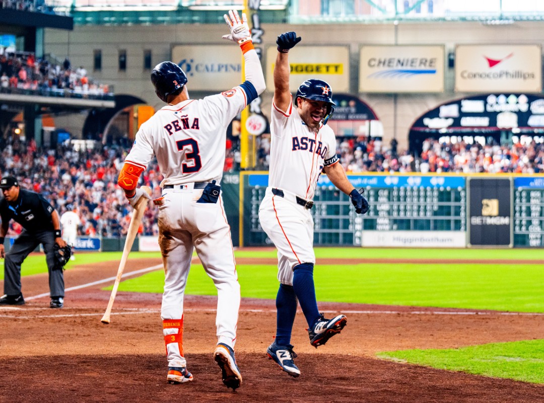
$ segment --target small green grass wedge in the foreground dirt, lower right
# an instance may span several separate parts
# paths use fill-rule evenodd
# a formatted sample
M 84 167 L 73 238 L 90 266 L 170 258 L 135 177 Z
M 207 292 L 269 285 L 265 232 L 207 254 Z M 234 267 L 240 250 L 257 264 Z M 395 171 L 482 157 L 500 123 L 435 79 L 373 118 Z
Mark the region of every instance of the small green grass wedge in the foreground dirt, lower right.
M 378 357 L 468 374 L 544 383 L 544 340 L 492 343 L 460 349 L 385 351 Z

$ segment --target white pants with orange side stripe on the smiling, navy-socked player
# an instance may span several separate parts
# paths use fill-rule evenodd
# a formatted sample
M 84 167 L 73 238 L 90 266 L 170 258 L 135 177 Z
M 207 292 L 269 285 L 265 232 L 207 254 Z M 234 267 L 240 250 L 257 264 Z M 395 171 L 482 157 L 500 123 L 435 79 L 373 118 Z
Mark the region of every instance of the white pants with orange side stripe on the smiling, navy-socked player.
M 277 279 L 292 286 L 294 266 L 316 263 L 310 210 L 273 195 L 268 188 L 259 207 L 259 222 L 277 248 Z

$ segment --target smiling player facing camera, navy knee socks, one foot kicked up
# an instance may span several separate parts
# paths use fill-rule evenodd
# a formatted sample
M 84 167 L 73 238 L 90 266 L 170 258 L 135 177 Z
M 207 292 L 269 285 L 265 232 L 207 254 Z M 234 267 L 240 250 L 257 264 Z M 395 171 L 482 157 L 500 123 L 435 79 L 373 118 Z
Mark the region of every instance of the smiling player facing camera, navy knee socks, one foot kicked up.
M 367 201 L 354 189 L 338 163 L 335 134 L 326 126 L 335 105 L 329 84 L 317 79 L 306 80 L 296 92 L 293 105 L 288 52 L 300 40 L 294 32 L 287 32 L 276 41 L 270 172 L 259 208 L 261 226 L 277 248 L 280 281 L 276 296 L 276 337 L 267 354 L 294 377 L 300 376 L 290 344 L 297 300 L 308 323 L 310 344 L 316 348 L 339 333 L 347 322 L 342 314 L 325 319 L 316 302 L 313 282 L 316 256 L 310 210 L 319 175 L 325 172 L 338 189 L 348 194 L 357 213 L 368 211 Z

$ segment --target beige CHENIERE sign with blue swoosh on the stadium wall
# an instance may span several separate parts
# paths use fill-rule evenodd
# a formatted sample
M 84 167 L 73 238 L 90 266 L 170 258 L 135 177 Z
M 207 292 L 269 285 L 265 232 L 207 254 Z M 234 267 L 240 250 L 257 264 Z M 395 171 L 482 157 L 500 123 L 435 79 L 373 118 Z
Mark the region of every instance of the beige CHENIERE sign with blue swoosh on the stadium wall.
M 443 92 L 443 46 L 362 46 L 359 92 Z

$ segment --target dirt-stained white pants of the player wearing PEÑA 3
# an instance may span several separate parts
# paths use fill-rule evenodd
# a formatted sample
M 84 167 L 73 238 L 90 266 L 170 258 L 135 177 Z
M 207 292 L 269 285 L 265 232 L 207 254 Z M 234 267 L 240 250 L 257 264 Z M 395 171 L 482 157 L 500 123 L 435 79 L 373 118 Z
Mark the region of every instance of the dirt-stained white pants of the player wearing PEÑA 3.
M 202 189 L 193 189 L 193 185 L 163 189 L 164 197 L 159 206 L 159 246 L 165 271 L 161 317 L 169 367 L 186 367 L 183 357 L 183 297 L 193 247 L 217 288 L 215 325 L 218 343 L 234 348 L 236 342 L 240 284 L 230 226 L 221 197 L 217 203 L 197 203 Z

